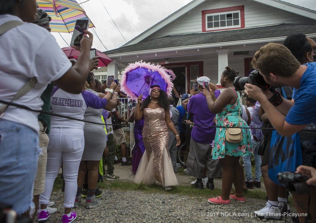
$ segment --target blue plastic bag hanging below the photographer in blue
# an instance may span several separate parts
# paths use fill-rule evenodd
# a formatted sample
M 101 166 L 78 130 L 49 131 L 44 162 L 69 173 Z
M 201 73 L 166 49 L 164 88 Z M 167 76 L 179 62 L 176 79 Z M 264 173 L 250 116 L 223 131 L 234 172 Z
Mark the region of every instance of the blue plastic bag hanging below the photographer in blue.
M 269 178 L 282 186 L 277 179 L 277 174 L 285 171 L 295 172 L 300 165 L 302 165 L 300 133 L 284 137 L 273 130 L 269 151 Z

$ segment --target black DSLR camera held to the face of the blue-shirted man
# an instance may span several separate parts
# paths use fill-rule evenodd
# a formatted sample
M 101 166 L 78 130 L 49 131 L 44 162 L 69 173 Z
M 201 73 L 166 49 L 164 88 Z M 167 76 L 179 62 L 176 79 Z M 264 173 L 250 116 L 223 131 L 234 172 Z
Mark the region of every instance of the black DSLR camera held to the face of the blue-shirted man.
M 256 85 L 263 90 L 270 90 L 271 92 L 275 92 L 275 88 L 264 81 L 264 78 L 259 73 L 259 70 L 253 70 L 248 77 L 235 77 L 233 85 L 236 91 L 243 91 L 245 90 L 246 83 Z

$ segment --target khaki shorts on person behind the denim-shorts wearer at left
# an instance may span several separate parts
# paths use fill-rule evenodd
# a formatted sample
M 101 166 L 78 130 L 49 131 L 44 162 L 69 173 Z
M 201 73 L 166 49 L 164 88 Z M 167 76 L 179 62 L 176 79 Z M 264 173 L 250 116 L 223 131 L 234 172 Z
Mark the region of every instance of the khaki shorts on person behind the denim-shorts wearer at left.
M 47 127 L 43 126 L 42 122 L 39 122 L 40 132 L 39 132 L 39 142 L 40 142 L 40 155 L 37 162 L 37 173 L 34 181 L 33 195 L 39 195 L 45 190 L 45 172 L 47 163 L 47 146 L 49 138 L 46 134 Z

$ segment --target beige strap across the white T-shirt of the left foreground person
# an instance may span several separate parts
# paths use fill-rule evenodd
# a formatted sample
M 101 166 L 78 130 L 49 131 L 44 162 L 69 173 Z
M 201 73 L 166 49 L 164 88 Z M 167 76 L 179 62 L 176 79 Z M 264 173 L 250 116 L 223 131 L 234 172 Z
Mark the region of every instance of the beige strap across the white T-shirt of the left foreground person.
M 24 24 L 23 22 L 21 21 L 17 21 L 17 20 L 13 20 L 13 21 L 8 21 L 8 22 L 5 22 L 3 23 L 1 26 L 0 26 L 0 36 L 9 31 L 10 29 L 13 29 L 17 26 L 20 26 Z M 29 81 L 27 81 L 23 87 L 21 87 L 21 89 L 14 95 L 14 97 L 11 99 L 10 102 L 12 102 L 13 100 L 16 100 L 16 99 L 19 99 L 21 98 L 23 95 L 25 95 L 26 93 L 28 93 L 32 88 L 35 87 L 37 83 L 37 80 L 36 80 L 36 77 L 33 77 L 31 78 Z M 9 105 L 0 105 L 0 118 L 3 117 L 4 115 L 4 112 L 5 110 L 7 110 Z

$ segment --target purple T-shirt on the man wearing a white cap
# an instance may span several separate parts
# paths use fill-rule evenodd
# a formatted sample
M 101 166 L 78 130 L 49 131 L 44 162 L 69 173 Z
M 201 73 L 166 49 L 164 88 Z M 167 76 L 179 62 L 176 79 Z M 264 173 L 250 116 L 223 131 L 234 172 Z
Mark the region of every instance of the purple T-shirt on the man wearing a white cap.
M 214 91 L 217 98 L 221 92 Z M 214 126 L 213 119 L 216 114 L 213 114 L 207 106 L 206 98 L 203 93 L 193 95 L 186 105 L 188 113 L 193 114 L 193 122 L 196 125 Z M 216 128 L 206 126 L 193 126 L 191 138 L 197 143 L 212 143 L 215 138 Z

